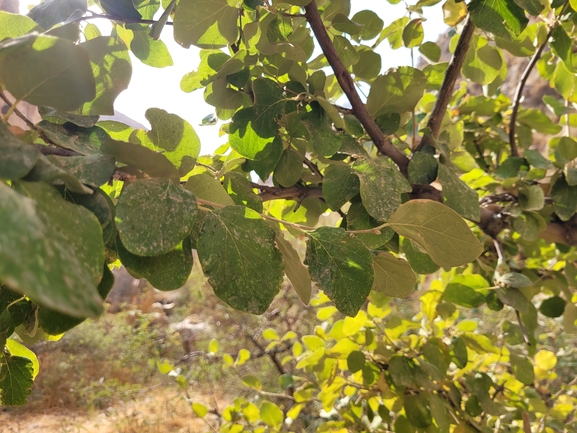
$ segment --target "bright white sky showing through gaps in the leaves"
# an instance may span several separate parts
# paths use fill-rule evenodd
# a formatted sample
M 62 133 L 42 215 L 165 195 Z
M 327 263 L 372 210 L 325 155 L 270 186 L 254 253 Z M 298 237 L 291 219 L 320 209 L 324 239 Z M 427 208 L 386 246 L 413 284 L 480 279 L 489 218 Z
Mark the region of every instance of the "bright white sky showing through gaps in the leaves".
M 29 7 L 38 2 L 38 0 L 20 0 L 21 13 L 27 13 Z M 360 10 L 372 9 L 383 19 L 385 26 L 405 15 L 402 2 L 393 6 L 386 0 L 352 0 L 351 4 L 351 16 Z M 427 8 L 426 12 L 427 20 L 423 22 L 425 41 L 435 41 L 438 35 L 447 28 L 443 22 L 441 4 Z M 197 68 L 200 50 L 195 47 L 184 49 L 174 42 L 170 26 L 166 26 L 163 30 L 162 40 L 172 55 L 174 66 L 163 69 L 152 68 L 131 56 L 132 80 L 128 89 L 116 99 L 116 110 L 147 127 L 149 123 L 144 113 L 150 107 L 162 108 L 169 113 L 178 114 L 187 120 L 199 135 L 202 153 L 211 153 L 225 141 L 225 138 L 219 137 L 218 125 L 199 125 L 203 117 L 214 113 L 214 109 L 204 102 L 202 89 L 193 93 L 184 93 L 180 90 L 180 80 L 183 75 Z M 380 45 L 378 52 L 381 54 L 383 72 L 391 67 L 411 65 L 410 50 L 406 48 L 391 50 L 388 43 L 384 42 Z M 417 62 L 417 57 L 418 53 L 415 54 L 415 62 Z

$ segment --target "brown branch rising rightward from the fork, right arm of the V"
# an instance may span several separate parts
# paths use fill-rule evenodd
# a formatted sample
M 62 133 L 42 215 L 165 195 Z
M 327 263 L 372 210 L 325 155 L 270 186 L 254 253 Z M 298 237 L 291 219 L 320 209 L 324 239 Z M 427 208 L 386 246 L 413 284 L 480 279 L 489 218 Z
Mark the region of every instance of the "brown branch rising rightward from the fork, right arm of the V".
M 461 74 L 461 67 L 465 61 L 465 56 L 469 50 L 469 45 L 471 44 L 471 39 L 473 39 L 473 34 L 475 33 L 475 25 L 470 18 L 467 18 L 463 32 L 459 37 L 459 42 L 457 42 L 457 47 L 455 48 L 455 53 L 449 63 L 449 67 L 445 73 L 445 79 L 443 84 L 439 89 L 437 94 L 437 100 L 435 101 L 435 106 L 427 122 L 427 127 L 430 130 L 430 135 L 425 135 L 421 142 L 415 147 L 414 151 L 418 152 L 425 146 L 435 147 L 435 140 L 439 136 L 439 131 L 441 130 L 441 123 L 449 105 L 449 101 L 453 96 L 453 90 L 455 89 L 455 84 L 457 79 Z

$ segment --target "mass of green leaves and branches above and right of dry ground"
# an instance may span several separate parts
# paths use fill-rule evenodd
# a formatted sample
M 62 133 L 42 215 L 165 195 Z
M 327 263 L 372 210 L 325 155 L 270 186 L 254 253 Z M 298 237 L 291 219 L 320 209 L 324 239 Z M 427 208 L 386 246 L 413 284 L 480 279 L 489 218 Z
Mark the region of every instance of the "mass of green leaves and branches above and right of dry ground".
M 263 313 L 286 274 L 305 303 L 315 283 L 345 323 L 366 316 L 371 291 L 406 297 L 424 280 L 418 274 L 451 272 L 423 295 L 429 334 L 411 335 L 406 350 L 379 335 L 389 344 L 387 387 L 404 396 L 395 429 L 495 428 L 502 414 L 488 373 L 461 380 L 475 368 L 469 351 L 506 349 L 514 380 L 530 386 L 539 320 L 571 332 L 577 319 L 577 12 L 570 1 L 445 0 L 454 27 L 447 62 L 424 41 L 422 21 L 437 3 L 399 5 L 406 14 L 393 22 L 371 10 L 351 16 L 350 0 L 44 0 L 27 16 L 0 12 L 9 107 L 0 122 L 0 401 L 23 404 L 37 371 L 13 333 L 50 338 L 98 316 L 118 260 L 175 289 L 196 250 L 234 308 Z M 110 34 L 95 18 L 111 22 Z M 214 155 L 201 155 L 189 123 L 158 108 L 146 112 L 150 131 L 99 119 L 129 85 L 129 52 L 151 67 L 172 64 L 159 39 L 167 25 L 183 47 L 202 48 L 181 88 L 202 89 L 224 121 L 228 141 Z M 426 64 L 383 72 L 385 43 Z M 502 84 L 518 58 L 529 61 L 507 96 Z M 549 116 L 521 104 L 537 73 L 550 87 Z M 26 119 L 8 93 L 42 120 Z M 11 125 L 12 115 L 30 129 Z M 304 256 L 295 237 L 307 243 Z M 474 330 L 453 339 L 439 331 L 456 320 L 455 305 L 484 304 L 515 312 L 521 340 L 498 349 Z M 324 359 L 324 343 L 309 341 L 301 367 Z M 379 376 L 365 372 L 380 364 L 366 367 L 360 350 L 347 353 L 348 370 L 370 385 Z M 468 393 L 463 407 L 452 388 L 437 387 L 449 364 L 449 382 Z M 323 365 L 319 380 L 330 388 Z M 526 390 L 519 398 L 525 411 L 535 406 Z M 447 410 L 454 416 L 441 420 Z M 275 407 L 260 411 L 279 428 Z

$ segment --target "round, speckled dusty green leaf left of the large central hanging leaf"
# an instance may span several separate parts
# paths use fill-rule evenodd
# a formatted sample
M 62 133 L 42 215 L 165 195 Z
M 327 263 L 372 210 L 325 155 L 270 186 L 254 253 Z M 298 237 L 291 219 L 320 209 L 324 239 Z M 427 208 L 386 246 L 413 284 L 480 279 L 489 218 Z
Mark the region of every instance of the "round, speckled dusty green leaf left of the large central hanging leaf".
M 192 229 L 194 195 L 168 179 L 136 180 L 125 186 L 116 206 L 122 244 L 139 256 L 172 251 Z

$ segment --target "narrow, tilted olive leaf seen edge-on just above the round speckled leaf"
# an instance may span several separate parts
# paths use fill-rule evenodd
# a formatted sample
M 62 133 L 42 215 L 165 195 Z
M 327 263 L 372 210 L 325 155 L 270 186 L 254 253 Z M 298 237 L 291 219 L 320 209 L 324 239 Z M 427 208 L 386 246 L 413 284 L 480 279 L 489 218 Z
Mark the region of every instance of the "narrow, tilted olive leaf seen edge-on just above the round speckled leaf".
M 118 162 L 134 167 L 151 177 L 172 179 L 180 177 L 178 170 L 166 156 L 139 144 L 107 139 L 102 143 L 100 150 L 105 155 L 113 156 Z

